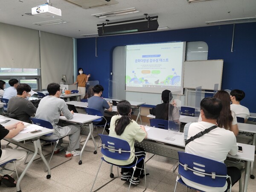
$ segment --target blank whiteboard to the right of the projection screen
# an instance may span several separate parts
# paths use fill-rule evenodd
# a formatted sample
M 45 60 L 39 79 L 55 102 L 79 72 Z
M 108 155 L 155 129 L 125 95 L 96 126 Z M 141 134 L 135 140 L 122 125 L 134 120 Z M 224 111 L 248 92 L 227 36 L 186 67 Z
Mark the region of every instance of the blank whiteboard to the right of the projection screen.
M 214 84 L 221 89 L 223 60 L 185 61 L 184 88 L 214 90 Z

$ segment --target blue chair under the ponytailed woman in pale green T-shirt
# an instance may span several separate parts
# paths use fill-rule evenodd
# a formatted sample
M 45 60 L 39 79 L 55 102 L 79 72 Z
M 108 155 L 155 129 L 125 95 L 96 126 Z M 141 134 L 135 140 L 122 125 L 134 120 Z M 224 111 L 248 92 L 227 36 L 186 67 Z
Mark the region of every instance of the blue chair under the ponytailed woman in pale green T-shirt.
M 128 160 L 129 157 L 130 157 L 130 154 L 133 153 L 133 151 L 131 151 L 131 148 L 130 148 L 130 145 L 127 141 L 125 140 L 122 140 L 122 139 L 119 139 L 119 138 L 116 138 L 116 137 L 110 137 L 108 135 L 102 135 L 102 134 L 99 134 L 99 137 L 101 137 L 101 140 L 102 140 L 102 149 L 101 149 L 101 152 L 104 156 L 106 157 L 109 157 L 109 158 L 112 158 L 112 159 L 115 159 L 115 160 Z M 108 161 L 106 161 L 104 159 L 104 157 L 101 157 L 102 161 L 99 165 L 99 169 L 102 165 L 102 162 L 105 161 L 106 163 L 108 164 L 111 164 L 112 166 L 117 166 L 117 167 L 121 167 L 121 168 L 133 168 L 134 171 L 135 169 L 140 169 L 140 168 L 137 168 L 136 165 L 137 163 L 139 163 L 140 161 L 144 161 L 144 173 L 145 173 L 145 189 L 147 189 L 147 183 L 146 183 L 146 169 L 145 169 L 145 157 L 136 157 L 137 158 L 137 161 L 134 165 L 131 165 L 131 166 L 120 166 L 120 165 L 115 165 L 113 163 L 110 163 Z M 99 169 L 98 169 L 98 172 L 96 174 L 96 177 L 94 179 L 94 182 L 93 182 L 93 186 L 94 186 L 94 183 L 96 181 L 96 178 L 98 176 L 98 173 L 99 173 Z M 112 173 L 111 173 L 112 174 Z M 134 176 L 134 172 L 132 174 L 132 177 Z M 93 186 L 91 188 L 91 192 L 93 190 Z M 131 182 L 130 182 L 130 185 L 129 185 L 129 188 L 128 188 L 128 191 L 130 190 L 130 187 L 131 187 Z

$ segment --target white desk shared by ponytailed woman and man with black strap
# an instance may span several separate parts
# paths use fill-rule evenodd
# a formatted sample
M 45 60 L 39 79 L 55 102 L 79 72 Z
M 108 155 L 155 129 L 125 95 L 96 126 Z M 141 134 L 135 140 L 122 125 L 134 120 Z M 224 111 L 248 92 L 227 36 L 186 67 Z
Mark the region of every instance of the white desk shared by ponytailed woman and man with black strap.
M 184 134 L 177 134 L 175 131 L 151 128 L 148 126 L 146 129 L 149 129 L 147 131 L 148 138 L 143 140 L 141 143 L 136 142 L 136 145 L 144 148 L 146 152 L 178 160 L 177 151 L 185 151 Z M 171 137 L 174 140 L 166 140 L 167 137 Z M 239 152 L 234 156 L 228 154 L 227 157 L 246 161 L 243 192 L 247 192 L 247 185 L 250 175 L 250 163 L 254 162 L 255 146 L 243 143 L 238 143 L 238 145 L 242 146 L 243 153 Z

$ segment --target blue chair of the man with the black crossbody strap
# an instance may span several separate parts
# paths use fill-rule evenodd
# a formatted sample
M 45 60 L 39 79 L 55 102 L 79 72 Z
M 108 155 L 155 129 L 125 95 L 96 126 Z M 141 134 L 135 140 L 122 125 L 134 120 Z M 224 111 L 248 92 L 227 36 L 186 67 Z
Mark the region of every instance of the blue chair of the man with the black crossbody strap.
M 231 178 L 227 175 L 227 166 L 224 163 L 181 151 L 178 151 L 178 155 L 179 173 L 174 191 L 176 190 L 177 182 L 191 189 L 201 191 L 186 185 L 180 176 L 192 182 L 211 187 L 223 187 L 226 184 L 227 178 L 230 179 L 231 183 Z M 231 186 L 229 191 L 231 192 Z

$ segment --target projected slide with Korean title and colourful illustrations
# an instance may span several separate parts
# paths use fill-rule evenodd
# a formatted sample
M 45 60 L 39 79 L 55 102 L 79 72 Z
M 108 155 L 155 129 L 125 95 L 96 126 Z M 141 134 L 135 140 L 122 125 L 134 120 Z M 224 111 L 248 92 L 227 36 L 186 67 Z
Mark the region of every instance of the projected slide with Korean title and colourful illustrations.
M 186 42 L 126 46 L 125 90 L 183 94 Z

